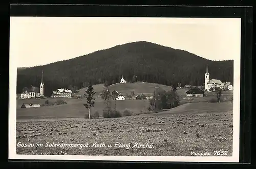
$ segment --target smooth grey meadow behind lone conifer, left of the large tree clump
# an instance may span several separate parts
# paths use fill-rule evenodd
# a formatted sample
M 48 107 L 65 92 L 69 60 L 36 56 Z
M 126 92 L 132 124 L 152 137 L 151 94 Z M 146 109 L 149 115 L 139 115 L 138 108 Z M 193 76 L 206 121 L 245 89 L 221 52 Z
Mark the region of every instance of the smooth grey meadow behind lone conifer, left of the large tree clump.
M 33 103 L 33 104 L 44 104 L 46 100 L 50 102 L 56 101 L 57 99 L 31 99 L 27 100 L 18 100 L 17 109 L 16 109 L 16 118 L 17 119 L 44 119 L 44 118 L 81 118 L 84 117 L 85 113 L 88 113 L 88 109 L 84 108 L 83 104 L 86 103 L 86 99 L 63 99 L 67 101 L 67 104 L 63 105 L 53 105 L 53 106 L 42 106 L 36 108 L 20 108 L 22 103 Z M 148 101 L 143 100 L 124 100 L 116 101 L 117 110 L 123 112 L 125 109 L 132 110 L 135 114 L 145 111 L 145 108 L 148 107 Z M 99 112 L 99 115 L 102 116 L 102 110 L 106 107 L 106 104 L 103 100 L 97 98 L 95 100 L 95 106 L 91 109 L 93 114 L 95 111 Z M 111 107 L 115 108 L 115 101 L 111 101 Z

